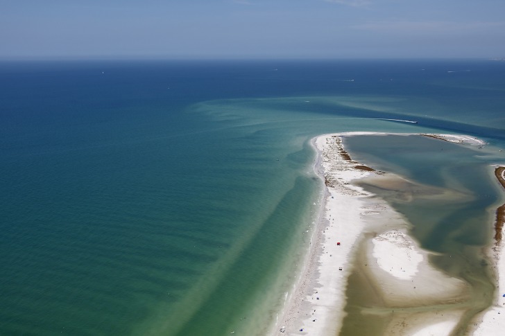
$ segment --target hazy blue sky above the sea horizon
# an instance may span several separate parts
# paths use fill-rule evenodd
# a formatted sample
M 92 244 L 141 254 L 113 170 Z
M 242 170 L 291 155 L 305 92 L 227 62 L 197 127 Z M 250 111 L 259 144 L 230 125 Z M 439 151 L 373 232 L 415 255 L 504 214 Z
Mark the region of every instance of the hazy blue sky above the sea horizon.
M 505 58 L 504 0 L 0 0 L 0 59 Z

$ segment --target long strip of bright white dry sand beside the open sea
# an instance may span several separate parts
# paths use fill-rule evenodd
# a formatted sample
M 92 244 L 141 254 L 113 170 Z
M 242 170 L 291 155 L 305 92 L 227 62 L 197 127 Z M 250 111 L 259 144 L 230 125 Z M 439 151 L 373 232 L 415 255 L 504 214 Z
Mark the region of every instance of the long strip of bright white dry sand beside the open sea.
M 275 326 L 274 335 L 335 335 L 341 327 L 345 306 L 345 284 L 350 274 L 352 251 L 365 222 L 361 213 L 372 210 L 361 188 L 350 181 L 369 173 L 354 169 L 343 159 L 338 148 L 327 145 L 331 136 L 320 136 L 315 144 L 326 179 L 325 209 L 316 226 L 311 256 L 294 293 Z M 337 245 L 340 243 L 339 245 Z

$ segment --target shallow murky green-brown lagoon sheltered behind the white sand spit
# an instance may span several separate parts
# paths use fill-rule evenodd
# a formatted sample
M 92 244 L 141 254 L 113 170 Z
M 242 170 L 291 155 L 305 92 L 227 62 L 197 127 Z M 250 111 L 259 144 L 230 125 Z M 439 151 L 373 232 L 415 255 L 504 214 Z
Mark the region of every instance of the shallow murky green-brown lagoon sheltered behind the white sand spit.
M 345 145 L 357 161 L 406 179 L 390 185 L 365 179 L 359 185 L 404 216 L 411 235 L 434 252 L 430 258 L 433 265 L 470 285 L 470 292 L 461 292 L 461 301 L 448 305 L 466 311 L 456 332 L 463 334 L 472 317 L 490 306 L 497 295 L 489 256 L 483 254 L 483 247 L 493 243 L 495 210 L 504 201 L 490 166 L 493 153 L 478 145 L 463 146 L 419 135 L 354 136 L 346 138 Z M 363 296 L 362 291 L 362 279 L 352 274 L 343 335 L 361 328 L 355 323 L 363 318 L 361 308 L 382 307 L 373 292 Z M 422 311 L 442 307 L 409 308 Z M 377 327 L 374 332 L 388 319 L 370 319 L 370 325 Z M 368 335 L 369 331 L 360 332 Z

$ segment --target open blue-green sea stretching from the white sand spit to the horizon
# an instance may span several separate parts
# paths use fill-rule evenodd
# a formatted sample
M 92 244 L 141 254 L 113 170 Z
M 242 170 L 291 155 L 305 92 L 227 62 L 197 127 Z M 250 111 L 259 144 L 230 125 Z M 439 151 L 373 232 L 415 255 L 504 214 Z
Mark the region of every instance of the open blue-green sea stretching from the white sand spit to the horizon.
M 344 131 L 505 163 L 505 62 L 1 62 L 0 335 L 262 335 L 321 202 L 309 140 Z

